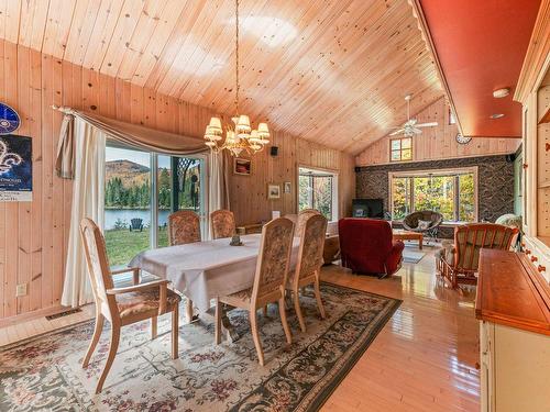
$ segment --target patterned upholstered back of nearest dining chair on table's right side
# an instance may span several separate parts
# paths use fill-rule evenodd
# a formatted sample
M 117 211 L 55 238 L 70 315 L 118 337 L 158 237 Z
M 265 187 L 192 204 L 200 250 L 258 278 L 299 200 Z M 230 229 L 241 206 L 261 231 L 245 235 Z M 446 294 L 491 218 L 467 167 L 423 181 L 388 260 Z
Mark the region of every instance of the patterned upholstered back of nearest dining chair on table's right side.
M 284 291 L 290 264 L 293 238 L 294 223 L 286 218 L 274 219 L 262 229 L 262 241 L 252 289 L 253 301 Z

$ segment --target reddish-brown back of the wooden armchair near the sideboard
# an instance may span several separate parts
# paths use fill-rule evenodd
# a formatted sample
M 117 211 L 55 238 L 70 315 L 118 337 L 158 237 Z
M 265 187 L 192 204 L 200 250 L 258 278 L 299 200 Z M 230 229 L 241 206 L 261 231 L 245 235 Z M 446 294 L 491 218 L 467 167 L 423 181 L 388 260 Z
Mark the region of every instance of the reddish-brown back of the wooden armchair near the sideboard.
M 482 248 L 509 250 L 517 227 L 495 223 L 471 223 L 454 229 L 457 269 L 476 271 Z

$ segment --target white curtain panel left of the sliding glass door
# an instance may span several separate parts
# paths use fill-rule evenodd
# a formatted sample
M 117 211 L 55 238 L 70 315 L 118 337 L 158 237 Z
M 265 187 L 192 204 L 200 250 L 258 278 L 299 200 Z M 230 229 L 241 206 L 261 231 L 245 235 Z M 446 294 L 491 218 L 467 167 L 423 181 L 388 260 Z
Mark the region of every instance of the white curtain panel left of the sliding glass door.
M 62 304 L 76 308 L 94 301 L 79 226 L 84 218 L 103 226 L 106 135 L 79 118 L 74 127 L 75 172 Z

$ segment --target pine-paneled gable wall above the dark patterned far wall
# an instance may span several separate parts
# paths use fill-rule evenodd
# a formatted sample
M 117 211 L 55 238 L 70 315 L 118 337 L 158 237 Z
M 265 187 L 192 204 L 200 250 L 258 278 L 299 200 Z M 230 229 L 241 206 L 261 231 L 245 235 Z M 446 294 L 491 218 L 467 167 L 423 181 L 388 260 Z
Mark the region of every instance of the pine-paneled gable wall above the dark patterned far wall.
M 439 99 L 422 110 L 417 119 L 419 123 L 438 122 L 439 124 L 435 127 L 422 129 L 422 134 L 413 137 L 413 160 L 415 162 L 514 153 L 521 143 L 520 138 L 474 137 L 468 145 L 458 144 L 455 136 L 459 131 L 455 124 L 449 124 L 449 103 L 446 98 Z M 385 136 L 365 148 L 356 156 L 356 165 L 372 166 L 389 163 L 389 136 Z

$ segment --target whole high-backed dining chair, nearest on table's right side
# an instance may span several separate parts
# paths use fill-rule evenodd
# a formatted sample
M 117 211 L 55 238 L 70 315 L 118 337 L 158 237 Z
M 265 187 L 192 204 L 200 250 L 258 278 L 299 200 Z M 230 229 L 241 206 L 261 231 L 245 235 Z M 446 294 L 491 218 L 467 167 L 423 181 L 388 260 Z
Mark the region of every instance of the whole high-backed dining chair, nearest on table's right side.
M 228 304 L 245 309 L 250 312 L 252 338 L 260 365 L 264 366 L 264 353 L 257 331 L 256 312 L 268 303 L 278 302 L 280 321 L 285 331 L 286 342 L 292 343 L 290 330 L 285 312 L 285 285 L 290 252 L 293 246 L 294 223 L 286 218 L 278 218 L 265 224 L 262 229 L 262 240 L 257 256 L 256 271 L 252 287 L 224 297 L 218 297 L 216 302 L 216 343 L 221 339 L 221 308 Z

